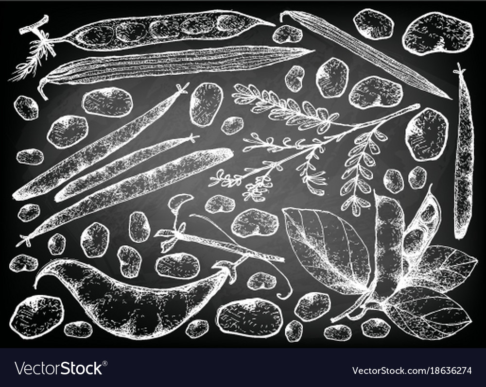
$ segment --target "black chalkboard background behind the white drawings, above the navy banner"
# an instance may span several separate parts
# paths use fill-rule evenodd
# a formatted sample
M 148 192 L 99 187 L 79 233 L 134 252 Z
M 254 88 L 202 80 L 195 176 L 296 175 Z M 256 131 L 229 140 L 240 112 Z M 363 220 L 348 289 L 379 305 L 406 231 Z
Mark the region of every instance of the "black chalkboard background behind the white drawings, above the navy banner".
M 229 5 L 231 4 L 231 5 Z M 3 60 L 2 74 L 4 82 L 2 84 L 3 96 L 3 133 L 6 137 L 5 159 L 4 159 L 4 256 L 3 269 L 1 276 L 2 284 L 2 323 L 1 334 L 4 347 L 287 347 L 289 343 L 285 339 L 282 331 L 275 337 L 269 339 L 250 339 L 225 335 L 219 332 L 214 324 L 215 311 L 219 305 L 247 297 L 262 297 L 271 300 L 282 308 L 284 314 L 284 324 L 294 319 L 293 309 L 296 301 L 309 291 L 329 292 L 332 300 L 332 309 L 328 315 L 311 323 L 304 324 L 304 336 L 300 342 L 292 346 L 300 347 L 484 347 L 484 312 L 485 302 L 484 279 L 485 270 L 481 252 L 482 246 L 482 218 L 484 215 L 483 207 L 483 182 L 484 175 L 484 155 L 482 153 L 482 143 L 484 141 L 484 118 L 482 102 L 484 100 L 484 66 L 481 61 L 482 48 L 485 44 L 484 30 L 482 29 L 482 19 L 480 18 L 480 3 L 476 2 L 2 2 L 3 12 L 1 13 L 1 28 L 3 34 Z M 101 20 L 104 18 L 147 16 L 158 14 L 171 14 L 179 12 L 205 11 L 210 9 L 227 9 L 241 11 L 248 15 L 260 17 L 272 21 L 279 25 L 278 15 L 280 12 L 289 9 L 308 11 L 317 16 L 324 17 L 337 27 L 364 40 L 356 31 L 352 22 L 352 17 L 361 9 L 370 7 L 379 10 L 395 21 L 395 33 L 391 39 L 384 41 L 368 41 L 371 46 L 382 50 L 384 53 L 396 58 L 399 62 L 416 69 L 441 89 L 446 91 L 453 101 L 448 101 L 431 94 L 421 92 L 415 88 L 403 85 L 404 98 L 400 105 L 391 109 L 369 109 L 358 111 L 349 106 L 347 93 L 350 87 L 360 79 L 369 75 L 378 75 L 384 78 L 395 80 L 380 68 L 365 62 L 358 56 L 333 44 L 329 40 L 312 34 L 304 29 L 303 40 L 295 46 L 305 47 L 316 50 L 314 53 L 304 56 L 292 62 L 284 62 L 272 67 L 261 68 L 251 72 L 234 73 L 211 73 L 181 76 L 166 76 L 159 78 L 128 79 L 112 83 L 99 83 L 94 85 L 52 85 L 45 86 L 45 93 L 49 101 L 42 101 L 37 94 L 36 86 L 40 77 L 47 74 L 55 67 L 69 62 L 70 60 L 85 57 L 87 55 L 99 55 L 102 53 L 87 52 L 70 46 L 68 43 L 59 43 L 54 48 L 57 56 L 50 57 L 46 62 L 42 62 L 35 78 L 29 77 L 27 80 L 18 83 L 6 82 L 9 74 L 17 63 L 24 60 L 28 52 L 29 42 L 34 39 L 33 34 L 20 36 L 17 30 L 20 27 L 31 24 L 39 20 L 44 14 L 49 15 L 50 21 L 42 29 L 48 32 L 51 37 L 57 37 L 69 33 L 71 30 L 84 24 Z M 8 12 L 6 11 L 8 8 Z M 467 20 L 473 24 L 475 37 L 472 46 L 466 52 L 459 54 L 435 53 L 425 57 L 414 56 L 405 51 L 400 42 L 401 34 L 406 26 L 416 17 L 430 11 L 440 11 L 454 17 Z M 292 21 L 290 17 L 285 17 L 283 23 L 288 23 L 300 27 Z M 188 48 L 219 47 L 226 45 L 253 44 L 253 45 L 274 45 L 272 33 L 274 28 L 259 26 L 244 33 L 242 36 L 220 42 L 211 41 L 191 41 L 174 42 L 148 48 L 122 51 L 120 53 L 149 52 L 157 50 L 183 50 Z M 112 54 L 112 53 L 108 53 Z M 337 100 L 324 100 L 319 95 L 314 85 L 314 74 L 317 68 L 330 57 L 335 56 L 344 60 L 350 68 L 350 78 L 347 93 Z M 474 185 L 474 213 L 469 226 L 467 236 L 457 241 L 453 237 L 452 227 L 452 187 L 453 187 L 453 167 L 455 153 L 455 139 L 457 128 L 457 85 L 458 77 L 452 73 L 457 68 L 456 63 L 461 63 L 461 67 L 467 68 L 465 79 L 469 85 L 472 98 L 473 118 L 476 135 L 476 164 L 475 164 L 475 185 Z M 304 87 L 293 94 L 287 90 L 283 77 L 293 65 L 301 65 L 306 70 Z M 434 342 L 426 342 L 410 337 L 399 330 L 394 324 L 391 333 L 383 340 L 370 340 L 361 334 L 360 324 L 371 317 L 381 317 L 388 320 L 382 313 L 369 312 L 364 319 L 356 322 L 342 320 L 340 323 L 348 324 L 353 337 L 347 342 L 333 342 L 323 337 L 323 330 L 330 325 L 328 317 L 341 313 L 350 306 L 356 299 L 355 296 L 341 296 L 315 281 L 299 265 L 288 242 L 281 208 L 294 206 L 300 208 L 322 209 L 335 213 L 350 222 L 356 231 L 363 238 L 368 246 L 370 254 L 373 254 L 374 246 L 374 208 L 364 210 L 360 218 L 354 218 L 350 211 L 341 213 L 339 207 L 343 199 L 339 197 L 339 188 L 343 181 L 340 176 L 344 171 L 344 162 L 347 158 L 347 151 L 353 146 L 353 135 L 346 137 L 340 144 L 330 144 L 319 166 L 327 171 L 329 185 L 326 187 L 326 196 L 316 197 L 308 192 L 295 171 L 295 167 L 302 160 L 294 160 L 284 166 L 284 171 L 273 173 L 272 180 L 274 188 L 267 194 L 267 201 L 261 204 L 253 202 L 243 202 L 241 193 L 242 187 L 231 189 L 220 186 L 208 188 L 209 177 L 213 176 L 217 168 L 213 168 L 188 180 L 161 189 L 150 195 L 138 198 L 127 203 L 120 204 L 96 214 L 86 216 L 76 220 L 69 225 L 59 228 L 55 232 L 60 232 L 67 238 L 67 248 L 64 256 L 77 258 L 87 262 L 79 246 L 79 236 L 81 232 L 92 222 L 100 221 L 106 225 L 111 232 L 111 240 L 108 251 L 103 258 L 89 260 L 90 264 L 103 270 L 106 274 L 113 276 L 124 282 L 131 284 L 169 287 L 175 286 L 182 281 L 170 281 L 161 279 L 154 272 L 154 262 L 159 254 L 159 242 L 157 238 L 150 238 L 147 242 L 135 245 L 131 243 L 127 235 L 128 217 L 131 212 L 144 211 L 148 216 L 152 231 L 159 228 L 170 228 L 172 215 L 167 208 L 167 201 L 171 196 L 181 192 L 190 192 L 196 199 L 184 206 L 181 219 L 190 213 L 205 214 L 204 204 L 209 197 L 215 194 L 225 194 L 233 197 L 237 201 L 236 210 L 231 214 L 217 214 L 210 216 L 219 226 L 229 232 L 230 224 L 236 216 L 246 208 L 258 207 L 278 215 L 280 228 L 278 233 L 267 238 L 253 237 L 242 239 L 242 245 L 254 250 L 281 255 L 286 258 L 284 265 L 279 268 L 288 276 L 294 286 L 294 294 L 287 301 L 280 301 L 276 297 L 277 292 L 286 292 L 285 281 L 274 269 L 257 260 L 248 260 L 239 267 L 238 281 L 233 285 L 225 285 L 223 289 L 208 303 L 208 305 L 195 317 L 206 319 L 210 323 L 209 333 L 197 340 L 189 339 L 181 327 L 174 333 L 149 341 L 130 341 L 114 337 L 104 332 L 101 328 L 93 324 L 93 335 L 89 339 L 73 339 L 65 337 L 62 327 L 65 323 L 74 320 L 88 320 L 83 309 L 76 303 L 70 293 L 54 277 L 45 277 L 40 280 L 37 291 L 32 287 L 35 273 L 13 273 L 8 269 L 10 260 L 19 253 L 26 253 L 35 256 L 39 260 L 39 265 L 47 263 L 52 257 L 47 250 L 47 241 L 53 234 L 47 233 L 36 237 L 32 243 L 32 248 L 24 246 L 15 248 L 18 235 L 30 233 L 42 219 L 63 208 L 64 203 L 53 202 L 53 196 L 57 190 L 52 191 L 42 197 L 35 198 L 29 202 L 38 203 L 41 206 L 41 216 L 30 223 L 21 223 L 17 219 L 17 211 L 24 204 L 14 202 L 11 194 L 19 186 L 29 181 L 31 178 L 49 168 L 53 164 L 65 158 L 75 150 L 75 147 L 65 151 L 55 150 L 46 141 L 46 134 L 52 122 L 66 114 L 85 115 L 81 108 L 80 101 L 84 93 L 98 87 L 116 85 L 129 91 L 134 100 L 132 113 L 124 118 L 102 118 L 88 116 L 89 135 L 83 140 L 79 147 L 94 141 L 105 135 L 122 124 L 139 116 L 159 101 L 172 95 L 176 84 L 190 82 L 188 88 L 192 90 L 201 82 L 215 82 L 219 84 L 225 93 L 225 99 L 221 109 L 216 116 L 214 123 L 205 129 L 193 126 L 189 120 L 189 96 L 183 95 L 174 103 L 172 108 L 160 118 L 152 127 L 144 131 L 136 140 L 122 148 L 121 151 L 111 155 L 106 161 L 114 160 L 122 154 L 134 151 L 142 146 L 148 146 L 164 139 L 181 137 L 190 133 L 201 135 L 196 144 L 184 144 L 171 151 L 167 151 L 154 157 L 148 162 L 143 163 L 137 168 L 132 169 L 121 177 L 126 177 L 135 172 L 140 172 L 163 164 L 169 160 L 179 157 L 182 154 L 195 151 L 197 149 L 207 149 L 212 147 L 229 147 L 235 152 L 235 157 L 226 162 L 221 168 L 227 173 L 241 173 L 243 167 L 259 167 L 262 160 L 277 160 L 280 154 L 269 155 L 265 151 L 252 151 L 242 153 L 244 143 L 243 137 L 248 137 L 251 132 L 257 132 L 262 138 L 274 136 L 277 143 L 280 143 L 285 136 L 290 136 L 293 140 L 306 138 L 311 140 L 315 132 L 298 132 L 295 127 L 287 127 L 283 122 L 270 121 L 264 114 L 255 115 L 249 111 L 249 106 L 237 106 L 233 103 L 231 93 L 233 85 L 236 83 L 255 84 L 260 90 L 267 89 L 275 91 L 281 98 L 294 98 L 301 102 L 311 101 L 316 107 L 326 107 L 330 112 L 339 112 L 340 122 L 363 122 L 369 119 L 382 117 L 401 107 L 419 102 L 422 108 L 432 107 L 441 111 L 447 116 L 450 123 L 449 141 L 442 157 L 434 162 L 424 163 L 423 166 L 428 171 L 427 185 L 433 183 L 434 195 L 438 198 L 442 207 L 442 225 L 434 237 L 433 244 L 446 245 L 457 248 L 469 255 L 478 258 L 479 263 L 470 278 L 460 287 L 452 290 L 449 295 L 461 304 L 468 312 L 473 322 L 455 336 Z M 15 113 L 12 102 L 15 98 L 25 94 L 33 97 L 40 107 L 40 116 L 37 120 L 26 122 L 19 118 Z M 415 112 L 417 113 L 417 112 Z M 377 166 L 373 168 L 375 175 L 372 186 L 378 194 L 388 195 L 389 193 L 382 185 L 382 175 L 387 168 L 399 169 L 406 179 L 408 172 L 417 165 L 411 158 L 403 141 L 404 130 L 407 122 L 415 113 L 396 118 L 387 122 L 382 131 L 388 135 L 389 140 L 381 144 L 382 153 L 377 157 Z M 229 116 L 243 117 L 245 122 L 244 129 L 237 135 L 226 136 L 220 131 L 220 126 L 224 119 Z M 45 154 L 45 161 L 42 165 L 28 167 L 18 165 L 15 160 L 17 151 L 25 148 L 38 148 Z M 98 168 L 99 166 L 96 166 Z M 251 182 L 248 180 L 246 183 Z M 405 189 L 395 197 L 400 200 L 407 223 L 413 218 L 418 206 L 426 193 L 426 188 L 414 191 L 408 184 Z M 371 195 L 366 198 L 371 200 Z M 71 200 L 66 202 L 70 204 Z M 208 215 L 208 214 L 206 214 Z M 184 219 L 187 220 L 187 219 Z M 224 239 L 217 230 L 208 226 L 201 219 L 189 219 L 189 233 L 210 238 Z M 143 263 L 139 277 L 134 280 L 126 280 L 120 274 L 119 263 L 116 257 L 118 247 L 122 244 L 129 244 L 136 247 L 143 257 Z M 179 242 L 173 252 L 190 252 L 199 257 L 202 270 L 200 277 L 209 275 L 211 265 L 219 259 L 236 259 L 237 256 L 228 255 L 221 251 L 202 247 L 195 244 Z M 248 277 L 257 271 L 266 271 L 277 276 L 278 286 L 274 290 L 253 292 L 246 288 Z M 65 319 L 61 326 L 43 337 L 35 340 L 22 340 L 9 327 L 8 320 L 15 306 L 34 294 L 49 294 L 60 297 L 65 306 Z

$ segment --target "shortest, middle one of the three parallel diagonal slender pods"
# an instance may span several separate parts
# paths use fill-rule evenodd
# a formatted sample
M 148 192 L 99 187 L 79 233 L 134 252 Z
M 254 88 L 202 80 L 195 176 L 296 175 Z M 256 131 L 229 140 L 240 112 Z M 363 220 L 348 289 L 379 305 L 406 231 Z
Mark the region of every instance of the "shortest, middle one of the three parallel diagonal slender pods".
M 149 160 L 162 152 L 185 144 L 186 142 L 194 143 L 195 139 L 198 137 L 199 136 L 191 134 L 189 137 L 173 138 L 170 140 L 159 142 L 150 147 L 133 151 L 125 156 L 121 156 L 111 163 L 95 169 L 94 171 L 89 172 L 86 175 L 80 176 L 65 185 L 55 194 L 54 201 L 62 202 L 66 199 L 72 198 L 73 196 L 85 192 L 88 189 L 96 187 L 97 185 L 100 185 L 110 179 L 113 179 L 121 173 L 138 166 L 140 163 Z

